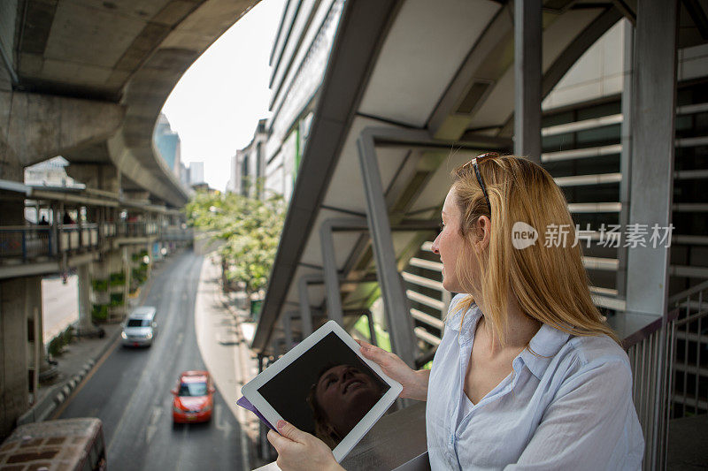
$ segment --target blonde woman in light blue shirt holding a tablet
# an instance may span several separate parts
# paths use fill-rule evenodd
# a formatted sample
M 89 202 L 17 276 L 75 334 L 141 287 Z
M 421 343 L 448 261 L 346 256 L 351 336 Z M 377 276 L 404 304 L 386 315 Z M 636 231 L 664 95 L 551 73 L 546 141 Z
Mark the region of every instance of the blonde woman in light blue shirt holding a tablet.
M 433 251 L 443 287 L 466 294 L 450 303 L 433 367 L 361 348 L 403 397 L 427 400 L 431 467 L 638 469 L 627 355 L 590 298 L 560 189 L 541 166 L 494 153 L 452 177 Z M 268 438 L 282 469 L 341 468 L 319 440 L 279 425 Z

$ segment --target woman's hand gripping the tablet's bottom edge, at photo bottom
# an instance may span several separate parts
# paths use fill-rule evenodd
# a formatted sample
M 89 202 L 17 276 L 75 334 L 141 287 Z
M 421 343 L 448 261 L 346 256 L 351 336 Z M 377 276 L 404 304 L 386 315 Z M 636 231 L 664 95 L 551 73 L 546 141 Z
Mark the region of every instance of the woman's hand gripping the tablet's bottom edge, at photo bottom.
M 343 470 L 335 460 L 335 455 L 327 444 L 317 437 L 296 429 L 296 427 L 285 421 L 278 421 L 278 435 L 273 430 L 268 430 L 268 441 L 278 452 L 276 464 L 283 471 L 300 470 L 312 471 L 322 470 Z

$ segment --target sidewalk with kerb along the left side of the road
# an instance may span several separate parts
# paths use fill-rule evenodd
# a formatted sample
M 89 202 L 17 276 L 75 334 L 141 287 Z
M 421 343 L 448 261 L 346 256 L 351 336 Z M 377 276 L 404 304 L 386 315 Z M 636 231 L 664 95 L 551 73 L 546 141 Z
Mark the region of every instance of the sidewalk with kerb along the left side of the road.
M 161 264 L 154 271 L 158 272 L 162 268 Z M 143 285 L 137 299 L 128 300 L 130 309 L 142 305 L 143 300 L 150 292 L 152 278 L 150 277 L 147 284 Z M 104 338 L 74 338 L 71 344 L 65 346 L 61 356 L 55 359 L 58 361 L 58 376 L 50 383 L 40 384 L 35 404 L 25 414 L 19 416 L 18 425 L 50 419 L 72 391 L 89 375 L 96 363 L 101 361 L 104 354 L 111 351 L 112 346 L 119 341 L 122 330 L 120 324 L 104 323 L 100 326 L 105 330 Z

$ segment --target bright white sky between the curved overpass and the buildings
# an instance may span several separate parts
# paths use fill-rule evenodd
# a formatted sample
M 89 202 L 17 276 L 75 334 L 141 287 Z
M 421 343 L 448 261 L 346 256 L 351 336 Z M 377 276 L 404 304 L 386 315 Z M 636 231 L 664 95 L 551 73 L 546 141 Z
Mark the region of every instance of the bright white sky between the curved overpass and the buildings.
M 231 156 L 270 116 L 268 58 L 285 0 L 262 0 L 182 76 L 163 112 L 180 134 L 182 163 L 204 162 L 204 179 L 227 186 Z

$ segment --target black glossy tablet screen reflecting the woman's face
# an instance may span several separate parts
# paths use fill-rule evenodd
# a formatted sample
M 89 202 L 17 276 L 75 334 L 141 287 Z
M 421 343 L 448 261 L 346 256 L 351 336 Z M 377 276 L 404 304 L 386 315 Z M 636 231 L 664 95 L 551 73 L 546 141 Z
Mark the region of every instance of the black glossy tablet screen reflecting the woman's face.
M 283 419 L 334 449 L 389 389 L 330 332 L 258 392 Z

